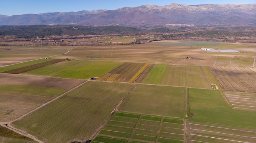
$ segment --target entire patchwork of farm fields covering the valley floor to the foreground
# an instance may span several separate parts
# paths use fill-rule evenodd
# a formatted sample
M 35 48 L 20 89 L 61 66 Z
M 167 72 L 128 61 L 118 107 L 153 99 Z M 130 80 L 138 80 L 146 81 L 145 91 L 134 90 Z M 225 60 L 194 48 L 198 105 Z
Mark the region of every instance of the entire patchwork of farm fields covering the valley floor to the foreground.
M 70 46 L 1 67 L 1 125 L 40 143 L 254 143 L 255 66 L 245 66 L 255 46 L 210 53 L 171 42 Z M 0 142 L 32 141 L 0 132 Z

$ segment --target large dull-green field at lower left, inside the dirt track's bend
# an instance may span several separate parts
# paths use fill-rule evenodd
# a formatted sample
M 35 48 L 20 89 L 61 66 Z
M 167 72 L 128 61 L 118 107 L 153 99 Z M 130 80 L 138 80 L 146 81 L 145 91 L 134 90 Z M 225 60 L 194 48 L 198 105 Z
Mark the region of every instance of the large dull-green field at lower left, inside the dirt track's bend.
M 88 81 L 12 124 L 47 143 L 88 140 L 133 86 Z

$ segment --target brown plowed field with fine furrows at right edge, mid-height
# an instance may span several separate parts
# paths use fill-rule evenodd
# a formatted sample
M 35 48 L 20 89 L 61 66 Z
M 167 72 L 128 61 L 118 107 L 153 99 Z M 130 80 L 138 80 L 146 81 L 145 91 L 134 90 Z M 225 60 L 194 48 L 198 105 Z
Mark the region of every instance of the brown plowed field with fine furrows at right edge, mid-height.
M 249 68 L 212 66 L 210 69 L 223 89 L 256 92 L 256 73 Z

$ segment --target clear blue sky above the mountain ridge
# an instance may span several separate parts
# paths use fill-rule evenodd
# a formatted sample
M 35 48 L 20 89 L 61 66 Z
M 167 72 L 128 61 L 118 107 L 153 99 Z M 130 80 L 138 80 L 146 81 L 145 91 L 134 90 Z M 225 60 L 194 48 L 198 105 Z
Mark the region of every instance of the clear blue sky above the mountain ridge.
M 118 9 L 140 5 L 169 5 L 171 3 L 195 4 L 252 4 L 256 0 L 0 0 L 0 14 L 20 15 L 27 13 L 69 12 L 96 9 Z

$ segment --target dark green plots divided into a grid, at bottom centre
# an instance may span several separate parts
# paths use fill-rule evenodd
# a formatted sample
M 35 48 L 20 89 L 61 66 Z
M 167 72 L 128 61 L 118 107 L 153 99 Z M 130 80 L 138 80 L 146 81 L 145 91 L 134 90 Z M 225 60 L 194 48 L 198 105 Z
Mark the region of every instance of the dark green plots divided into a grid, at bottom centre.
M 182 119 L 171 119 L 126 112 L 115 113 L 92 143 L 183 143 Z

